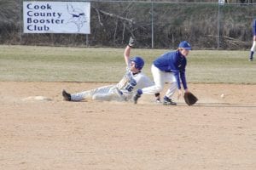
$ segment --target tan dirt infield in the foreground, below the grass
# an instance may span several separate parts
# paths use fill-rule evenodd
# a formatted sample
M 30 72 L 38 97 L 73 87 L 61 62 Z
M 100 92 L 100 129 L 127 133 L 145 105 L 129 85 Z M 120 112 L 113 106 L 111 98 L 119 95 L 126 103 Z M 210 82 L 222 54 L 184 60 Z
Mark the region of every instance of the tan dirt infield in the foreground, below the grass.
M 62 100 L 102 85 L 0 82 L 0 169 L 256 169 L 256 85 L 189 84 L 195 106 Z

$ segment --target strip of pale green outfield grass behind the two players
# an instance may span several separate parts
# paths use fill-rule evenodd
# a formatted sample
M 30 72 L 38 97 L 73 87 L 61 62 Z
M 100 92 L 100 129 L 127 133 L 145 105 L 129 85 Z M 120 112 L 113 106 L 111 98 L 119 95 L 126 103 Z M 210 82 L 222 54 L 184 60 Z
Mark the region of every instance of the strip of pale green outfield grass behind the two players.
M 146 61 L 143 71 L 166 49 L 133 49 Z M 0 46 L 0 81 L 118 82 L 125 72 L 124 48 Z M 188 57 L 188 82 L 256 83 L 256 60 L 248 51 L 195 50 Z

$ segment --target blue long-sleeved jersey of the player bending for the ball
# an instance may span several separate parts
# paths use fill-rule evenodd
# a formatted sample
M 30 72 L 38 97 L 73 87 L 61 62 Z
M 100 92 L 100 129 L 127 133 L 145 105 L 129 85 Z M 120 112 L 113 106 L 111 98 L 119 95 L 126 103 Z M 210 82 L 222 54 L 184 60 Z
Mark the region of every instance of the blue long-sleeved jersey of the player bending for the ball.
M 162 54 L 159 58 L 153 62 L 160 71 L 172 72 L 177 80 L 177 88 L 180 89 L 180 79 L 183 82 L 183 88 L 187 89 L 187 82 L 185 77 L 185 68 L 187 65 L 187 59 L 179 51 L 168 52 Z

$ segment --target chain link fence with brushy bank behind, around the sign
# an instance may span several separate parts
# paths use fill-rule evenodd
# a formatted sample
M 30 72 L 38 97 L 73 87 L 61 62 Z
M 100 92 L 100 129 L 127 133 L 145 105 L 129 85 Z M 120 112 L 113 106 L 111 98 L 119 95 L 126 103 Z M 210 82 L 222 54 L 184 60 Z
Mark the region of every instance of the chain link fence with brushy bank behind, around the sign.
M 139 48 L 177 48 L 187 40 L 194 49 L 247 49 L 256 18 L 253 1 L 86 1 L 91 4 L 90 35 L 24 34 L 23 0 L 10 2 L 0 7 L 0 42 L 5 44 L 123 47 L 132 36 Z

